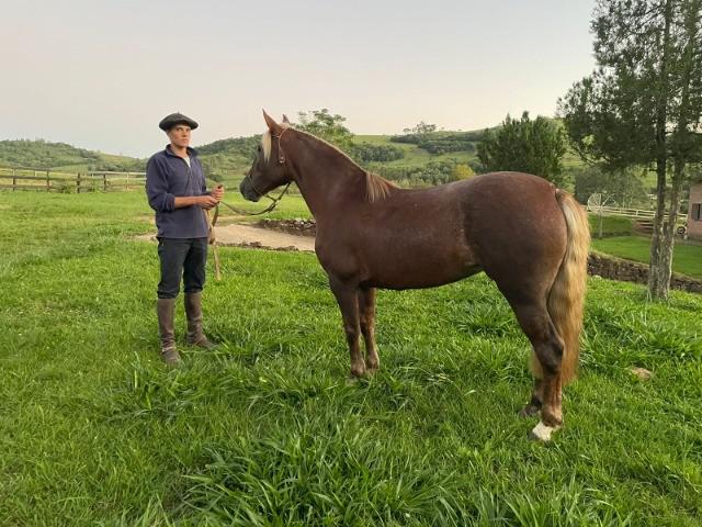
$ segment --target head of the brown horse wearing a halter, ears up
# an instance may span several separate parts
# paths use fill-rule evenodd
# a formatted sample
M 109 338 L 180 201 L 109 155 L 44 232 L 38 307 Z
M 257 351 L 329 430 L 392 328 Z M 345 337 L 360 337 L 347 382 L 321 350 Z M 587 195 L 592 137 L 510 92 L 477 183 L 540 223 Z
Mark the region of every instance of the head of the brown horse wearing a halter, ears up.
M 268 131 L 261 137 L 253 165 L 239 186 L 241 195 L 249 201 L 259 201 L 262 195 L 292 180 L 292 175 L 285 167 L 285 154 L 281 148 L 281 138 L 290 127 L 290 122 L 283 115 L 283 123 L 279 124 L 265 113 L 265 110 L 263 119 L 268 124 Z

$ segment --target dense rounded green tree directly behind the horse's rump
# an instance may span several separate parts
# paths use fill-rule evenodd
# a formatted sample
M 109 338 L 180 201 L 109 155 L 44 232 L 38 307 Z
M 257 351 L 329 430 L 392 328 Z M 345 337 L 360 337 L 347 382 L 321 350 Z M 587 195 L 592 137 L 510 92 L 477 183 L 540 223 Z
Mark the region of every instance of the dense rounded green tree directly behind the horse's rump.
M 562 158 L 566 135 L 556 122 L 529 112 L 517 121 L 507 115 L 502 126 L 486 130 L 478 143 L 478 158 L 487 171 L 516 170 L 541 176 L 555 184 L 563 183 Z

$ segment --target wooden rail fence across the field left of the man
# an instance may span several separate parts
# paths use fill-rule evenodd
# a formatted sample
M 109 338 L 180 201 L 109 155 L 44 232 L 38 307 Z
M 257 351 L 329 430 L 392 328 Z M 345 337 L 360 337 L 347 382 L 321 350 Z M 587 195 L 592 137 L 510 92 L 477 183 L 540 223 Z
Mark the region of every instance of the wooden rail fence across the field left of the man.
M 44 192 L 111 192 L 143 189 L 144 172 L 63 172 L 34 168 L 0 168 L 0 190 Z

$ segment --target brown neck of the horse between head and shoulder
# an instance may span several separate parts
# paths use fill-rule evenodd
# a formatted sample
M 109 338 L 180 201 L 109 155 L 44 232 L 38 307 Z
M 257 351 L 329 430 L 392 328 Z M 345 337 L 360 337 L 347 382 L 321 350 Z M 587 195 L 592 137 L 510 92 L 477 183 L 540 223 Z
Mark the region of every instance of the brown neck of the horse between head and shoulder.
M 333 147 L 316 142 L 312 137 L 301 141 L 299 153 L 293 159 L 297 182 L 303 198 L 313 215 L 333 214 L 349 203 L 365 195 L 363 170 Z M 302 154 L 302 155 L 301 155 Z

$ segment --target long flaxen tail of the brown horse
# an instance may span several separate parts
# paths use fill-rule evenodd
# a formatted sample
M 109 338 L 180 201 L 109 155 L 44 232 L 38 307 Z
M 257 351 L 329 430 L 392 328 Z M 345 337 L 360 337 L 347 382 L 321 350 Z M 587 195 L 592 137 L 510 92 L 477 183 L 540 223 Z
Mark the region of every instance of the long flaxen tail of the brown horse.
M 565 344 L 561 381 L 566 384 L 578 370 L 590 226 L 587 212 L 573 195 L 557 190 L 556 200 L 568 226 L 568 243 L 561 269 L 548 293 L 548 314 Z

